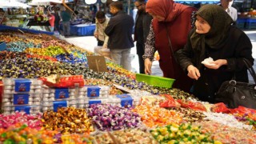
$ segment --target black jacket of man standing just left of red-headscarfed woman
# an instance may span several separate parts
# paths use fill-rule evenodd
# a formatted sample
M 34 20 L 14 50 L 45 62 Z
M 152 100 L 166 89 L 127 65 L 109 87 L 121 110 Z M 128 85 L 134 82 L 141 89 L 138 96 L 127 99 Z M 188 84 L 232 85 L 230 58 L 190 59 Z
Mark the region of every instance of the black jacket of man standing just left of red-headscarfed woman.
M 150 33 L 151 20 L 152 16 L 150 14 L 146 12 L 137 13 L 134 31 L 134 41 L 137 41 L 137 54 L 144 54 L 146 37 Z

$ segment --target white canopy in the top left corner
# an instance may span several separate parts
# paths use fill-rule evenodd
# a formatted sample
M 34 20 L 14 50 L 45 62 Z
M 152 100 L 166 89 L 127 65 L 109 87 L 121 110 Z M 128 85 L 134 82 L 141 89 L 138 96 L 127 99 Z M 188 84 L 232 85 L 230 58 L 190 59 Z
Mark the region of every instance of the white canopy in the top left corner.
M 13 7 L 21 7 L 21 8 L 28 8 L 31 7 L 27 5 L 26 3 L 17 2 L 16 0 L 1 0 L 0 1 L 0 7 L 1 8 L 13 8 Z

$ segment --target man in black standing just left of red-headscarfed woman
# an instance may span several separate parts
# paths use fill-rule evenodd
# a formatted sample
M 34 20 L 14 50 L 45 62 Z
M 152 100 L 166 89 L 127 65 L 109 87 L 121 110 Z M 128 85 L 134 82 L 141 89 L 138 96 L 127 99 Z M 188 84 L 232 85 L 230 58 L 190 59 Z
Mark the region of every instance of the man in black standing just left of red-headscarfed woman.
M 146 2 L 145 0 L 136 0 L 134 6 L 137 7 L 137 16 L 135 20 L 135 31 L 134 31 L 134 42 L 136 42 L 139 73 L 145 74 L 144 59 L 142 55 L 145 52 L 146 37 L 150 32 L 150 23 L 152 16 L 146 13 Z

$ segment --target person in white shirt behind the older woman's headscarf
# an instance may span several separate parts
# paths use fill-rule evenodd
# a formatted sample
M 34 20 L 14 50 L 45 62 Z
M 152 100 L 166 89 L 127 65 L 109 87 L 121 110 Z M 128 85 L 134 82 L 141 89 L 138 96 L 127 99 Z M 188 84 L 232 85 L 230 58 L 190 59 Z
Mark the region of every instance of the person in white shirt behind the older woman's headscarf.
M 230 17 L 233 19 L 234 25 L 235 25 L 235 22 L 238 19 L 238 10 L 236 10 L 234 7 L 232 7 L 232 4 L 234 1 L 233 0 L 221 0 L 220 2 L 221 2 L 220 6 L 222 6 L 222 8 L 224 10 L 226 10 L 227 14 L 230 15 Z

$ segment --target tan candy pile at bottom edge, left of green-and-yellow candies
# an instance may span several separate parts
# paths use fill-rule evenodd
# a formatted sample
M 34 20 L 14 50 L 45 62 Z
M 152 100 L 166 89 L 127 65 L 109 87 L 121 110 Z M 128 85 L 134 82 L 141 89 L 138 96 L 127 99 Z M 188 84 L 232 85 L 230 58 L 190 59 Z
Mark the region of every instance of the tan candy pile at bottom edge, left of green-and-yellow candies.
M 117 130 L 113 133 L 114 138 L 119 143 L 145 143 L 145 144 L 157 144 L 156 140 L 152 138 L 150 133 L 139 129 L 128 129 L 128 130 Z M 113 140 L 110 138 L 110 135 L 100 134 L 95 136 L 95 141 L 99 144 L 114 144 Z

